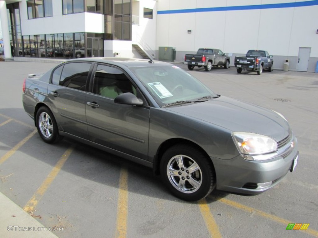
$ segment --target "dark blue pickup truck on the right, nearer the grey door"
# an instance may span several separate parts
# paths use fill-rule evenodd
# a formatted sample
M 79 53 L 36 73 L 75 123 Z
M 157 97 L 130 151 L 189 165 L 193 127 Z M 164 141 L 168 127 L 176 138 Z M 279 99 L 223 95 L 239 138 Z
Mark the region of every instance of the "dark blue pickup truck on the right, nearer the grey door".
M 268 69 L 268 72 L 273 70 L 273 56 L 265 50 L 249 50 L 245 57 L 236 56 L 234 65 L 239 74 L 244 69 L 246 71 L 257 71 L 257 74 L 260 75 L 263 69 Z

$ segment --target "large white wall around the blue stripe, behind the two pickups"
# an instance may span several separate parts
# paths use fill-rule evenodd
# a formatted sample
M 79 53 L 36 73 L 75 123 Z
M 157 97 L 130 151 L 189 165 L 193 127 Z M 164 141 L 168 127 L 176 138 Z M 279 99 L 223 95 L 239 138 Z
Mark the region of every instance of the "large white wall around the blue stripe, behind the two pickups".
M 249 49 L 267 50 L 282 61 L 297 58 L 299 47 L 310 47 L 314 62 L 318 57 L 318 5 L 277 5 L 297 2 L 304 0 L 159 0 L 156 48 L 176 47 L 176 61 L 182 61 L 184 53 L 196 52 L 201 47 L 218 48 L 233 55 L 243 55 Z M 274 4 L 274 8 L 240 10 L 242 6 L 267 4 Z M 200 12 L 202 8 L 214 9 Z M 160 14 L 191 9 L 196 12 Z

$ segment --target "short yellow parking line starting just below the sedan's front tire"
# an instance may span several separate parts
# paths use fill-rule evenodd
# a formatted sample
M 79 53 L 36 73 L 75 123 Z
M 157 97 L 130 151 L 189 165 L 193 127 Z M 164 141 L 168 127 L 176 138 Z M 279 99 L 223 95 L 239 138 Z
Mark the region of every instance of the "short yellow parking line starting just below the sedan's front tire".
M 206 200 L 202 199 L 198 202 L 201 214 L 205 221 L 205 225 L 208 228 L 211 237 L 219 238 L 222 237 L 219 229 L 218 224 L 215 222 L 214 217 L 210 211 L 208 204 L 206 204 Z

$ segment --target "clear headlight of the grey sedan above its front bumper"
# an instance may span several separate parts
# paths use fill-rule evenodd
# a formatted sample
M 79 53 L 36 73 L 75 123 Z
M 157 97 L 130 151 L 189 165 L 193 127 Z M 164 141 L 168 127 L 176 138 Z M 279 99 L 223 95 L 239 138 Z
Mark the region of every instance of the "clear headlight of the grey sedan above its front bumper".
M 277 150 L 277 142 L 268 136 L 248 132 L 233 132 L 233 140 L 242 155 L 263 155 Z M 248 160 L 264 160 L 267 156 L 243 156 Z

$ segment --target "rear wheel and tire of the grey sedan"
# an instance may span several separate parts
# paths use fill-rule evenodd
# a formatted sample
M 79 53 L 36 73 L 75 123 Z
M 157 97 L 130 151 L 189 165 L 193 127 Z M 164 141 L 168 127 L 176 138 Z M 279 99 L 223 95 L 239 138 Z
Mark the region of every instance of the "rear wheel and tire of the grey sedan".
M 61 139 L 59 129 L 52 112 L 47 107 L 40 107 L 36 114 L 36 126 L 42 140 L 54 143 Z

